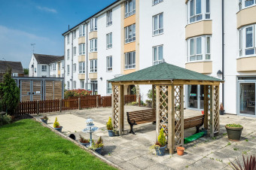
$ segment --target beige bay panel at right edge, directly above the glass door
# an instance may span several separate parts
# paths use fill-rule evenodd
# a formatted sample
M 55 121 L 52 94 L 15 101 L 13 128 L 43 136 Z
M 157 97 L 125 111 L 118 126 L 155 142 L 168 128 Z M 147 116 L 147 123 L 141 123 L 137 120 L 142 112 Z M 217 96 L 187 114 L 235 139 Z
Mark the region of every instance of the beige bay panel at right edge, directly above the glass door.
M 256 71 L 256 56 L 236 59 L 236 71 Z

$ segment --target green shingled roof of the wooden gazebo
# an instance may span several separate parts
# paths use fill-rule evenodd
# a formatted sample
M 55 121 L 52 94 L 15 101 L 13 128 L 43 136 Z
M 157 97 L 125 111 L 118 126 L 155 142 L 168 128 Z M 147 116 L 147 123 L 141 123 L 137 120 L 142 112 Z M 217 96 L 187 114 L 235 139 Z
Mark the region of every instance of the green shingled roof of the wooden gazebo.
M 142 70 L 126 74 L 114 79 L 108 80 L 109 82 L 120 81 L 142 81 L 142 80 L 210 80 L 210 81 L 223 81 L 221 79 L 210 77 L 205 74 L 200 74 L 195 71 L 190 71 L 185 68 L 171 65 L 162 62 L 158 65 L 153 65 Z

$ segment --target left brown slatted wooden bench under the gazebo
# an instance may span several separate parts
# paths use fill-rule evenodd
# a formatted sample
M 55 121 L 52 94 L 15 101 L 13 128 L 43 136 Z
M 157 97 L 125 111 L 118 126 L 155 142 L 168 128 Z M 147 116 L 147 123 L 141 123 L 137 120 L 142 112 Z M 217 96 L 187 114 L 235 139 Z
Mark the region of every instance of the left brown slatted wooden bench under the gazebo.
M 133 126 L 142 124 L 142 123 L 150 123 L 156 121 L 156 110 L 155 109 L 147 109 L 142 111 L 131 111 L 126 112 L 127 120 L 130 124 L 130 133 L 133 133 Z

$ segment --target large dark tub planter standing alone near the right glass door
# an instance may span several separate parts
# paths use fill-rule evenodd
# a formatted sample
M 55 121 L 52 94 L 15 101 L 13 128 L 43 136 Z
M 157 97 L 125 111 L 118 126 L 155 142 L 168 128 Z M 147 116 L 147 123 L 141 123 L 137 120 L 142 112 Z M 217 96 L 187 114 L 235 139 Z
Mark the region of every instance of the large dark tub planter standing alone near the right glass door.
M 242 125 L 239 124 L 227 124 L 225 126 L 227 130 L 227 137 L 230 139 L 230 141 L 239 141 L 242 134 Z

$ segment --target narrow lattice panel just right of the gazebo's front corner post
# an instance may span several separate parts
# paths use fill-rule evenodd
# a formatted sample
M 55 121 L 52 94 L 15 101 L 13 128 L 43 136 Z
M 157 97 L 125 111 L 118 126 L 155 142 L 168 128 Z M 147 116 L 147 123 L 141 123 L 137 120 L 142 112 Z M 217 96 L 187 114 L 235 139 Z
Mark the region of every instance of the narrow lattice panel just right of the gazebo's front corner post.
M 181 86 L 174 86 L 175 145 L 181 145 Z

